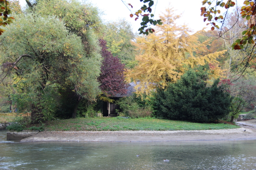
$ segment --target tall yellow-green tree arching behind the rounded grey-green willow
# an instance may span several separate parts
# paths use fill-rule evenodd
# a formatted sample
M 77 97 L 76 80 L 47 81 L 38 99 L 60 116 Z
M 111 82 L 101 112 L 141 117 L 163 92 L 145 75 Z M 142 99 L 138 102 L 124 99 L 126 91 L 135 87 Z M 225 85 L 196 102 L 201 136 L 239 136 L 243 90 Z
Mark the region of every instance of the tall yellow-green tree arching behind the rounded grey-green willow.
M 67 30 L 73 34 L 76 34 L 81 38 L 82 49 L 86 54 L 88 59 L 87 65 L 93 66 L 93 74 L 88 74 L 87 77 L 91 76 L 92 79 L 95 78 L 95 74 L 99 75 L 101 66 L 101 56 L 99 54 L 99 42 L 98 37 L 101 34 L 102 21 L 100 19 L 99 11 L 96 7 L 91 4 L 81 3 L 75 0 L 36 0 L 29 1 L 26 0 L 29 7 L 35 14 L 40 14 L 41 16 L 48 17 L 54 15 L 64 22 Z M 29 3 L 30 2 L 30 3 Z M 91 67 L 88 67 L 90 69 Z M 85 69 L 87 70 L 87 68 Z M 82 79 L 83 77 L 81 77 Z M 90 83 L 89 83 L 90 82 Z M 93 81 L 95 82 L 95 81 Z M 87 87 L 96 88 L 99 85 L 88 81 Z M 69 102 L 69 108 L 66 108 L 68 112 L 73 112 L 72 117 L 76 117 L 76 112 L 81 99 L 84 99 L 84 95 L 76 93 L 74 89 L 77 87 L 66 85 L 62 90 L 63 94 L 68 94 L 65 98 L 72 101 Z M 93 95 L 92 95 L 93 96 Z M 66 100 L 64 99 L 64 100 Z M 94 97 L 86 97 L 86 99 L 91 100 Z M 61 108 L 66 107 L 67 104 L 63 104 Z

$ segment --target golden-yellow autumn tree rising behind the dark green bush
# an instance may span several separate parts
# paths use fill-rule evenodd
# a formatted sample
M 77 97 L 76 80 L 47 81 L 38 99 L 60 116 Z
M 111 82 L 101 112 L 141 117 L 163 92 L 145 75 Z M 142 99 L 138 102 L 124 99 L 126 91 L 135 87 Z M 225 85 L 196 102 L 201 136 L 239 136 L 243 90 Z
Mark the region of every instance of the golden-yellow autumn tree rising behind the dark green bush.
M 195 65 L 210 64 L 212 76 L 221 74 L 216 58 L 224 51 L 195 57 L 194 53 L 204 51 L 208 42 L 199 42 L 197 36 L 189 34 L 192 31 L 186 25 L 176 25 L 175 20 L 179 18 L 172 8 L 167 8 L 160 16 L 163 25 L 157 25 L 154 33 L 137 38 L 140 55 L 136 59 L 139 64 L 128 71 L 127 77 L 140 80 L 138 92 L 148 94 L 156 86 L 165 88 L 168 82 L 176 82 L 186 68 Z

